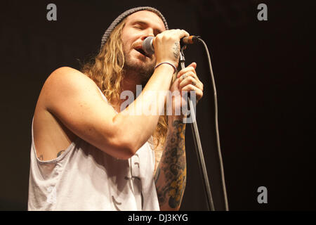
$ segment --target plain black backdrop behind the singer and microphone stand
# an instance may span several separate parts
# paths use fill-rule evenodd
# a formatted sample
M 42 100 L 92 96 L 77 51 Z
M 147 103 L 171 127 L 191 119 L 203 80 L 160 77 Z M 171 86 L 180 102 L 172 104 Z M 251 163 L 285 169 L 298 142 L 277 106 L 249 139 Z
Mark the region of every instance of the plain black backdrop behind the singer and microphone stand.
M 56 68 L 79 69 L 98 51 L 114 18 L 153 6 L 170 28 L 199 34 L 209 46 L 230 210 L 316 210 L 315 4 L 313 1 L 6 1 L 1 2 L 0 210 L 27 210 L 29 150 L 41 86 Z M 46 6 L 57 6 L 57 21 Z M 268 21 L 258 21 L 258 4 Z M 214 136 L 213 90 L 202 45 L 197 62 L 204 97 L 197 123 L 216 210 L 223 210 Z M 186 132 L 187 187 L 181 210 L 206 210 L 202 180 Z M 258 204 L 257 188 L 268 188 Z

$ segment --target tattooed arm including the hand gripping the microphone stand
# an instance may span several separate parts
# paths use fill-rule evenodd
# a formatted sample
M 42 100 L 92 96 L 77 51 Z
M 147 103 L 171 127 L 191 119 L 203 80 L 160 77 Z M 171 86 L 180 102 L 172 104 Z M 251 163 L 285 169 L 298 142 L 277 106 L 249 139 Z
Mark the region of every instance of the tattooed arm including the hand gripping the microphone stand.
M 187 103 L 180 91 L 194 91 L 199 101 L 203 96 L 203 84 L 199 81 L 195 68 L 191 63 L 180 70 L 171 85 L 171 91 L 178 91 L 173 99 L 173 112 Z M 187 165 L 185 159 L 185 123 L 184 115 L 169 115 L 168 132 L 163 148 L 155 150 L 157 170 L 154 182 L 159 200 L 160 210 L 179 210 L 185 190 Z

